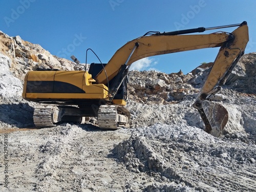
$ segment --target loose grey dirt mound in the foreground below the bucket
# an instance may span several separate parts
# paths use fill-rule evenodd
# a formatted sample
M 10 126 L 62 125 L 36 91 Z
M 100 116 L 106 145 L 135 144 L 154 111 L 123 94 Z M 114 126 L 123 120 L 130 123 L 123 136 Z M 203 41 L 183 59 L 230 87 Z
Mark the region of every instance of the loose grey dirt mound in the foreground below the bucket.
M 184 187 L 181 191 L 185 186 L 196 191 L 256 190 L 255 141 L 236 137 L 218 139 L 195 127 L 155 124 L 137 129 L 113 152 L 131 172 L 172 183 L 155 187 L 158 190 L 179 191 L 175 190 L 177 184 Z M 152 186 L 149 188 L 152 190 Z

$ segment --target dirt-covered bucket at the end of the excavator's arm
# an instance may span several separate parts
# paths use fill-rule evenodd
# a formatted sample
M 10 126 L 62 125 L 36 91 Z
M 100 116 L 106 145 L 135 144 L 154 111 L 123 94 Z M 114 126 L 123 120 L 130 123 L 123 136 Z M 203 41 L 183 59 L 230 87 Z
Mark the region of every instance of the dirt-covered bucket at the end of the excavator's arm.
M 228 121 L 228 112 L 219 103 L 204 100 L 203 108 L 198 109 L 205 124 L 205 131 L 215 137 L 219 137 Z

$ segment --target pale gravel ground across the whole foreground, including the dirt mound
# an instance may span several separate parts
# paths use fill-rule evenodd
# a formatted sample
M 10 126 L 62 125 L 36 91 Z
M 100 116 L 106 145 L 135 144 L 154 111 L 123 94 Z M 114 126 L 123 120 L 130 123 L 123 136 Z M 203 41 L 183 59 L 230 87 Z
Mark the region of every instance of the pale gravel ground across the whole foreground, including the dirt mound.
M 255 137 L 157 123 L 2 130 L 2 191 L 256 191 Z M 6 169 L 1 166 L 2 173 Z

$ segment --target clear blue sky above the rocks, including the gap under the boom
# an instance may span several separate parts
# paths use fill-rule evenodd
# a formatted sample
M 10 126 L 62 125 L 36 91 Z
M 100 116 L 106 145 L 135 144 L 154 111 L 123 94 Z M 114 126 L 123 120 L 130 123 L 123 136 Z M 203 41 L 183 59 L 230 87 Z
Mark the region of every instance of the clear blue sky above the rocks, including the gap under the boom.
M 0 30 L 39 44 L 53 55 L 68 59 L 75 55 L 83 63 L 91 48 L 106 63 L 127 41 L 147 31 L 207 28 L 246 20 L 250 40 L 245 53 L 250 53 L 256 51 L 255 10 L 255 0 L 0 0 Z M 149 57 L 134 63 L 132 69 L 165 73 L 181 69 L 186 74 L 202 62 L 214 61 L 218 50 Z M 92 53 L 87 61 L 98 62 Z

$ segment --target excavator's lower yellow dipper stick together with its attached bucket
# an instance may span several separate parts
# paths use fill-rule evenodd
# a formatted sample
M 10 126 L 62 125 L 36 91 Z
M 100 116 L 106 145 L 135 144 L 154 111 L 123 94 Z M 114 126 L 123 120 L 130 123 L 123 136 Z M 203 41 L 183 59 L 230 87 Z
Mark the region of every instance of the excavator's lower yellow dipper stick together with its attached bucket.
M 220 91 L 229 74 L 244 54 L 249 40 L 246 22 L 230 34 L 230 40 L 224 42 L 214 61 L 208 77 L 194 103 L 205 124 L 205 131 L 220 136 L 228 122 L 228 112 L 220 104 L 210 102 L 209 96 Z

